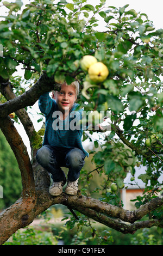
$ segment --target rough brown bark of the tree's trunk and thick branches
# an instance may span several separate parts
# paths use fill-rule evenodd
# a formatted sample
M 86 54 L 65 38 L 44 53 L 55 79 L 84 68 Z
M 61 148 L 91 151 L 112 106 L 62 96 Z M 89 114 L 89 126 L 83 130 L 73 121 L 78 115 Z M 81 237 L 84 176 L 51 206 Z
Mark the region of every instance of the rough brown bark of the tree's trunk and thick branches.
M 11 109 L 12 112 L 17 111 L 17 115 L 22 121 L 29 139 L 32 140 L 35 130 L 24 107 L 33 105 L 43 92 L 49 92 L 53 88 L 51 82 L 51 78 L 47 78 L 43 74 L 30 90 L 22 96 L 16 97 L 11 90 L 9 82 L 6 81 L 4 83 L 3 81 L 1 83 L 0 80 L 1 93 L 8 100 L 0 105 L 0 128 L 14 151 L 22 175 L 23 185 L 22 197 L 0 214 L 0 245 L 7 241 L 16 230 L 32 223 L 37 215 L 54 204 L 66 205 L 68 209 L 79 211 L 93 220 L 124 234 L 134 234 L 137 229 L 150 228 L 153 225 L 161 227 L 159 220 L 136 222 L 163 204 L 163 199 L 159 197 L 142 205 L 138 210 L 128 211 L 97 199 L 85 197 L 80 191 L 78 191 L 77 196 L 68 196 L 62 193 L 58 197 L 53 197 L 48 193 L 50 185 L 48 173 L 36 162 L 36 150 L 34 148 L 32 148 L 32 161 L 30 161 L 27 148 L 8 114 L 10 114 Z M 33 147 L 32 143 L 31 147 Z

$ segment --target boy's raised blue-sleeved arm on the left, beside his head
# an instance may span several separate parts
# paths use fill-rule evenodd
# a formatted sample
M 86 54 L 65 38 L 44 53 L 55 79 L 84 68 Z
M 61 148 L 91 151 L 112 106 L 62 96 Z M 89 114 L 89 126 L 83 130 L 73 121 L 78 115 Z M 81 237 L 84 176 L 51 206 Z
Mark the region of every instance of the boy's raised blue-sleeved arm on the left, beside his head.
M 54 101 L 49 96 L 49 93 L 44 93 L 40 96 L 39 108 L 43 114 L 48 115 L 49 112 L 51 111 L 53 104 L 54 104 Z

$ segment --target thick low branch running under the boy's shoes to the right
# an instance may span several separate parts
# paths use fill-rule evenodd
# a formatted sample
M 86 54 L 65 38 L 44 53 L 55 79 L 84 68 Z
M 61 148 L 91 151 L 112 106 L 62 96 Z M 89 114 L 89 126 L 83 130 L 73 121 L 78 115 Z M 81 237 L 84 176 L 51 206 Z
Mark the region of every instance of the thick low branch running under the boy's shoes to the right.
M 37 215 L 54 204 L 66 205 L 69 209 L 79 211 L 93 220 L 103 223 L 124 234 L 134 234 L 137 229 L 145 227 L 151 228 L 154 225 L 161 227 L 159 220 L 136 222 L 137 220 L 140 220 L 141 217 L 163 204 L 163 199 L 159 197 L 142 205 L 138 210 L 128 211 L 118 206 L 101 202 L 97 199 L 85 197 L 80 193 L 78 193 L 77 196 L 68 196 L 67 194 L 62 193 L 58 197 L 53 197 L 48 193 L 48 186 L 42 188 L 40 184 L 40 186 L 36 188 L 35 198 L 26 197 L 19 199 L 10 208 L 1 212 L 0 244 L 3 244 L 17 229 L 32 223 Z M 8 223 L 9 220 L 10 229 L 8 224 L 4 225 L 4 223 Z

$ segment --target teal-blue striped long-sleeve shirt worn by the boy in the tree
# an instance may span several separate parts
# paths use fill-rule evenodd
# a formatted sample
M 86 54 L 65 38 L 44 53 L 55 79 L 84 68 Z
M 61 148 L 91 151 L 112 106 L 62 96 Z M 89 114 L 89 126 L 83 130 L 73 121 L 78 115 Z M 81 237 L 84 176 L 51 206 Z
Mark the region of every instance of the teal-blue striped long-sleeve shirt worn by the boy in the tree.
M 76 111 L 75 109 L 79 106 L 79 104 L 74 103 L 71 111 L 70 111 L 70 117 L 71 113 L 73 111 Z M 85 156 L 89 156 L 87 151 L 83 148 L 82 145 L 82 135 L 83 130 L 82 129 L 67 129 L 67 123 L 68 125 L 72 121 L 72 118 L 69 118 L 66 120 L 62 120 L 60 125 L 63 125 L 62 129 L 56 129 L 57 124 L 57 111 L 58 105 L 54 99 L 52 99 L 49 96 L 49 93 L 42 94 L 39 98 L 39 108 L 40 111 L 45 115 L 45 135 L 43 139 L 42 145 L 51 145 L 52 147 L 59 147 L 59 148 L 79 148 L 81 149 Z M 83 109 L 79 109 L 78 113 L 81 116 Z M 73 115 L 72 115 L 73 117 Z M 58 118 L 59 120 L 59 118 Z M 61 128 L 61 126 L 59 127 Z M 67 126 L 68 127 L 68 126 Z

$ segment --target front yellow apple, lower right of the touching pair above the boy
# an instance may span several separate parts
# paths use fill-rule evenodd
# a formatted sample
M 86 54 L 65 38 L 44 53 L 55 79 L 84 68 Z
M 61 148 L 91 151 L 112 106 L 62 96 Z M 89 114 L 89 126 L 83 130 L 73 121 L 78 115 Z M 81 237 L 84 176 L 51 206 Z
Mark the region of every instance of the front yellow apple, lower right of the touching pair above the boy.
M 88 74 L 93 82 L 99 83 L 106 79 L 106 77 L 109 75 L 109 70 L 105 64 L 102 62 L 97 62 L 90 66 Z

